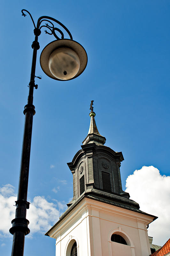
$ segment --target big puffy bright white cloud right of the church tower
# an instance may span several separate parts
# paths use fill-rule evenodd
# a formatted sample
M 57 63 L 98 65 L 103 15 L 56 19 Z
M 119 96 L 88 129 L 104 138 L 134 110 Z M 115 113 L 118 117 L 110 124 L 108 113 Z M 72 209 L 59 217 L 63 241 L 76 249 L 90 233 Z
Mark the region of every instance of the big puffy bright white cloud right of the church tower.
M 154 166 L 135 170 L 126 180 L 126 192 L 140 205 L 140 210 L 158 217 L 149 225 L 153 243 L 163 245 L 170 234 L 170 176 L 160 175 Z

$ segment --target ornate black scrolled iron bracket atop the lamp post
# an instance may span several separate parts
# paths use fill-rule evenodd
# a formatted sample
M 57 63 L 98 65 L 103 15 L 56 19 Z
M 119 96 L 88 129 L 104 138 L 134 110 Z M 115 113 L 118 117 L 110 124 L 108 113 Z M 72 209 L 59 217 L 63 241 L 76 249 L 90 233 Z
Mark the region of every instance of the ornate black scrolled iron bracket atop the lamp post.
M 22 16 L 27 16 L 27 14 L 25 14 L 24 12 L 27 12 L 34 24 L 34 34 L 35 36 L 39 36 L 41 34 L 41 28 L 48 28 L 48 31 L 47 30 L 44 30 L 45 34 L 49 34 L 49 35 L 53 35 L 57 40 L 58 39 L 64 39 L 64 33 L 62 32 L 61 29 L 59 28 L 56 28 L 53 24 L 52 21 L 56 22 L 57 24 L 59 24 L 62 28 L 64 28 L 64 30 L 67 32 L 67 34 L 69 35 L 70 39 L 73 40 L 73 37 L 70 33 L 70 31 L 68 30 L 68 28 L 66 28 L 60 21 L 52 18 L 52 17 L 49 17 L 49 16 L 41 16 L 38 21 L 37 21 L 37 27 L 35 27 L 35 22 L 33 20 L 33 17 L 32 15 L 30 14 L 30 12 L 28 12 L 27 10 L 25 9 L 22 9 Z M 52 20 L 52 21 L 51 21 Z M 48 23 L 45 23 L 45 25 L 41 25 L 42 22 L 44 21 L 47 21 Z M 55 31 L 58 31 L 61 35 L 61 38 L 57 36 L 56 32 Z

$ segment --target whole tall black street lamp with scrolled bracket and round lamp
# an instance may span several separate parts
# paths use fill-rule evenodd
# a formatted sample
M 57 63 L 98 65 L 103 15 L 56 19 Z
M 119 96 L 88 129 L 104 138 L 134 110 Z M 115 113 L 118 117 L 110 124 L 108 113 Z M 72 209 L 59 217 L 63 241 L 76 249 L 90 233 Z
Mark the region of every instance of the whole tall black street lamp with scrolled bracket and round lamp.
M 34 24 L 31 14 L 27 10 L 22 10 L 22 15 L 25 17 L 27 12 Z M 44 22 L 48 22 L 45 23 Z M 59 24 L 69 35 L 70 39 L 64 39 L 63 32 L 54 27 L 53 22 Z M 49 25 L 50 24 L 50 25 Z M 23 135 L 18 198 L 16 201 L 15 219 L 12 220 L 12 228 L 10 233 L 13 235 L 12 256 L 23 256 L 25 236 L 29 234 L 29 221 L 26 219 L 26 211 L 29 209 L 29 202 L 27 202 L 27 188 L 28 188 L 28 174 L 29 174 L 29 160 L 31 148 L 31 135 L 33 116 L 35 115 L 35 106 L 33 105 L 33 91 L 35 84 L 35 65 L 37 50 L 40 48 L 38 43 L 38 36 L 41 34 L 41 28 L 48 28 L 45 30 L 46 34 L 53 35 L 57 40 L 48 44 L 41 53 L 40 64 L 47 76 L 59 81 L 71 80 L 84 71 L 87 65 L 87 53 L 81 44 L 73 41 L 70 31 L 58 20 L 42 16 L 37 21 L 37 26 L 34 29 L 35 41 L 32 43 L 33 60 L 31 67 L 31 78 L 29 83 L 29 95 L 27 105 L 24 108 L 25 127 Z M 56 35 L 58 31 L 61 35 L 59 38 Z

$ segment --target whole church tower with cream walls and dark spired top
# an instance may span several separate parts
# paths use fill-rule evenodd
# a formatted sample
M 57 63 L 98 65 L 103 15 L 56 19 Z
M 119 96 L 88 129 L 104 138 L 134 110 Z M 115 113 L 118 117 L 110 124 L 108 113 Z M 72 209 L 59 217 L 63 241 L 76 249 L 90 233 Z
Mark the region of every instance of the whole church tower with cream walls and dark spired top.
M 92 105 L 88 135 L 68 163 L 73 199 L 45 235 L 56 239 L 56 256 L 149 256 L 147 225 L 157 217 L 122 190 L 122 152 L 104 146 Z

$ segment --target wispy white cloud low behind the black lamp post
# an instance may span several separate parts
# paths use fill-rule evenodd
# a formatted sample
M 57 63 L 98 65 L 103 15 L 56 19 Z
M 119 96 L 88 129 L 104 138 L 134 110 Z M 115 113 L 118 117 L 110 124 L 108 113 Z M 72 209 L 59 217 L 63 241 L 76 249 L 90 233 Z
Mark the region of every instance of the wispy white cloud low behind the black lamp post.
M 15 218 L 15 209 L 13 206 L 17 196 L 14 195 L 14 187 L 10 184 L 0 188 L 0 236 L 10 236 L 9 229 L 12 227 L 11 221 Z M 28 227 L 31 234 L 35 232 L 46 232 L 63 212 L 62 203 L 57 204 L 48 202 L 43 196 L 35 196 L 33 202 L 30 202 L 30 209 L 27 210 L 27 219 L 30 224 Z M 61 205 L 60 205 L 61 204 Z

